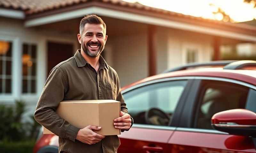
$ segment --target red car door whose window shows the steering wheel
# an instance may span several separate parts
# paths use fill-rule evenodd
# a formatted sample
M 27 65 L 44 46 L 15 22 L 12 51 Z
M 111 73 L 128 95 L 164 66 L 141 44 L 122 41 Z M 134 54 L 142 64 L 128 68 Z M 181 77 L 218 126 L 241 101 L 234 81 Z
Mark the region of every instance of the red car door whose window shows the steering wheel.
M 176 107 L 186 96 L 190 81 L 187 79 L 160 79 L 133 86 L 123 96 L 134 124 L 119 135 L 118 153 L 170 152 L 167 142 L 179 116 Z M 167 119 L 166 115 L 169 119 Z

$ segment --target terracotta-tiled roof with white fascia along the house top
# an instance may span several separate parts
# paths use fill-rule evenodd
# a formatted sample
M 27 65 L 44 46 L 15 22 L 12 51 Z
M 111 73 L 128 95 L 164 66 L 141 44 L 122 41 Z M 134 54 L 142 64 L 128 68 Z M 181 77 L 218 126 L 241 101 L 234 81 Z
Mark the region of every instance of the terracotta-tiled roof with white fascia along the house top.
M 3 0 L 0 7 L 24 11 L 26 27 L 95 13 L 109 18 L 256 42 L 254 26 L 203 19 L 122 0 Z

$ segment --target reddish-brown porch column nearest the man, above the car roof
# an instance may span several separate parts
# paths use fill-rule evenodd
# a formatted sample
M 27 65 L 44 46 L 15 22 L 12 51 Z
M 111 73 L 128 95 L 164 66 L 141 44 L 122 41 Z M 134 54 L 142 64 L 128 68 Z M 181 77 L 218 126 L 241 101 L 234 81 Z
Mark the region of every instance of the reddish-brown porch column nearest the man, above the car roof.
M 148 76 L 156 75 L 156 26 L 148 25 Z

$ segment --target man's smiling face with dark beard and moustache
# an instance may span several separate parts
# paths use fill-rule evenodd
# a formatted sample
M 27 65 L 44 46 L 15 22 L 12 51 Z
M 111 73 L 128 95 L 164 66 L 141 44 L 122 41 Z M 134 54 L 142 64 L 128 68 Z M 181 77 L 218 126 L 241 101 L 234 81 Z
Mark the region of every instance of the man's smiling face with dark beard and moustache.
M 90 57 L 97 57 L 103 51 L 108 36 L 102 24 L 85 24 L 82 35 L 78 36 L 84 53 Z

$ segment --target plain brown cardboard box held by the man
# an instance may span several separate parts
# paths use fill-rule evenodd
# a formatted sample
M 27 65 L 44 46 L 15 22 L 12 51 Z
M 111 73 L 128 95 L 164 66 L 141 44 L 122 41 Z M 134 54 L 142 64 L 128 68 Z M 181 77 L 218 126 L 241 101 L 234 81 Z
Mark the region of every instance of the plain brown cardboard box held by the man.
M 116 100 L 68 100 L 60 102 L 56 111 L 63 119 L 77 128 L 100 126 L 100 135 L 120 135 L 114 127 L 114 119 L 120 115 L 120 102 Z M 44 134 L 53 134 L 44 128 Z

